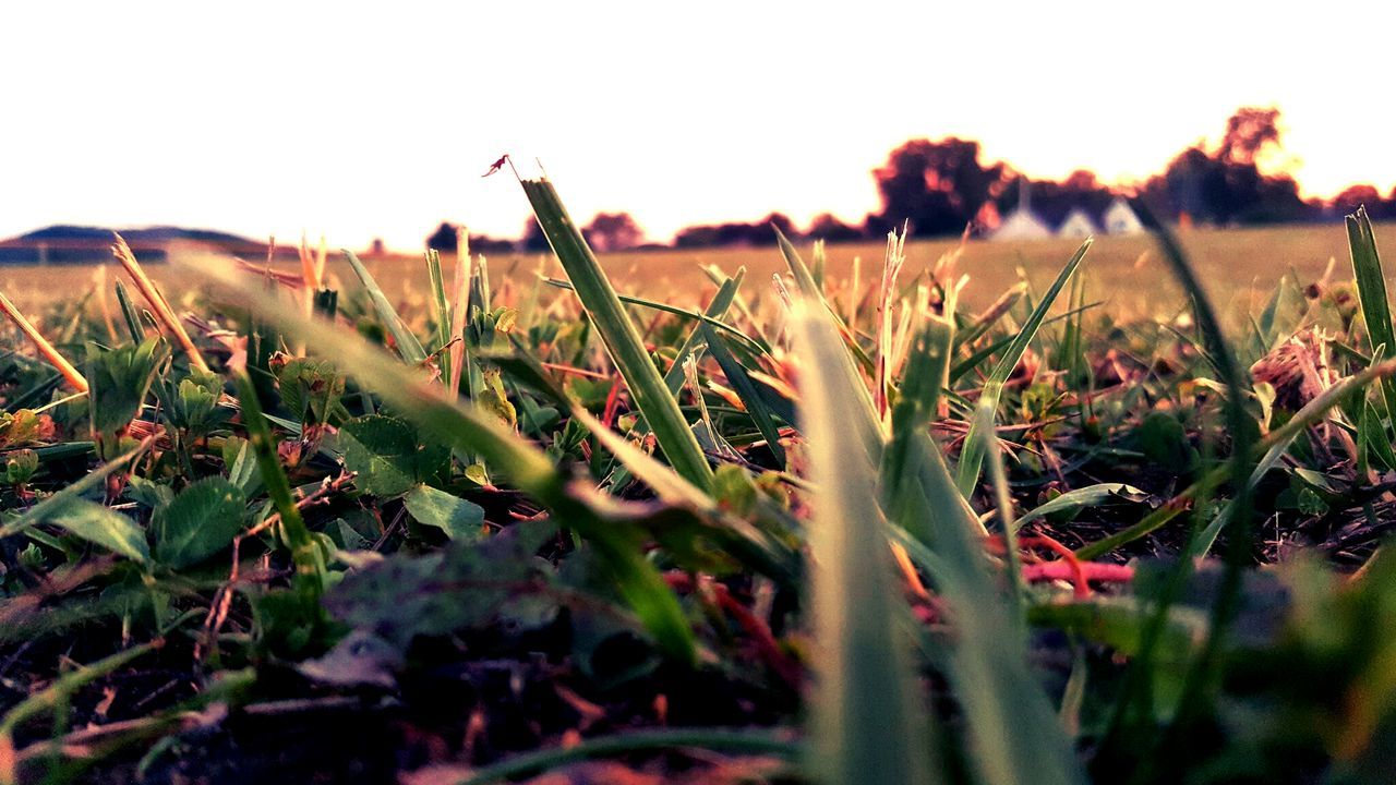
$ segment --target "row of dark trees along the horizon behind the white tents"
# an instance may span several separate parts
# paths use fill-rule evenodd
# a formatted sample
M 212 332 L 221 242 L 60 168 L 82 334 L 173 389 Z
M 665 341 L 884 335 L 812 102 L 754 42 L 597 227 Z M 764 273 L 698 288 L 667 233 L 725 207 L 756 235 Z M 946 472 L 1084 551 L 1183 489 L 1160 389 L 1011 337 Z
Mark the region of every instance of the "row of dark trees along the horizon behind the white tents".
M 872 170 L 881 210 L 860 223 L 847 223 L 832 214 L 818 215 L 800 229 L 786 215 L 771 212 L 750 222 L 688 226 L 671 246 L 645 239 L 639 223 L 627 212 L 597 214 L 582 233 L 597 251 L 642 247 L 718 247 L 775 244 L 772 226 L 797 239 L 832 243 L 879 239 L 893 226 L 910 225 L 914 236 L 935 237 L 988 232 L 1001 215 L 1018 207 L 1019 186 L 1032 194 L 1032 210 L 1057 225 L 1074 210 L 1099 215 L 1120 196 L 1136 198 L 1154 217 L 1185 225 L 1249 226 L 1328 221 L 1365 204 L 1374 218 L 1396 218 L 1396 189 L 1381 194 L 1368 184 L 1351 186 L 1332 200 L 1304 200 L 1290 175 L 1268 173 L 1261 162 L 1282 151 L 1280 112 L 1275 108 L 1238 109 L 1226 124 L 1222 141 L 1196 142 L 1178 152 L 1163 172 L 1142 183 L 1110 186 L 1093 172 L 1081 169 L 1062 180 L 1034 180 L 1012 165 L 983 156 L 973 140 L 946 137 L 910 140 L 893 149 L 885 163 Z M 427 246 L 455 250 L 455 226 L 443 223 Z M 470 236 L 482 251 L 546 251 L 547 240 L 529 219 L 518 240 Z

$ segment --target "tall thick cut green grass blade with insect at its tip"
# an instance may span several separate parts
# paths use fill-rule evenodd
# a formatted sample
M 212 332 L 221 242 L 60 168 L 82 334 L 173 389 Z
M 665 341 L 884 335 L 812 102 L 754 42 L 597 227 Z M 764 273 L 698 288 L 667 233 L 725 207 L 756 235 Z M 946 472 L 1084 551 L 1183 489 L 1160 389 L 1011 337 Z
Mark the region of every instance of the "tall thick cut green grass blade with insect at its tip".
M 712 487 L 708 457 L 704 455 L 698 439 L 684 420 L 678 399 L 664 387 L 659 369 L 645 351 L 639 330 L 621 306 L 592 249 L 568 217 L 553 183 L 522 180 L 521 184 L 533 205 L 539 226 L 553 246 L 553 253 L 567 271 L 582 307 L 592 317 L 611 362 L 630 387 L 635 408 L 649 423 L 664 457 L 688 482 L 701 489 Z

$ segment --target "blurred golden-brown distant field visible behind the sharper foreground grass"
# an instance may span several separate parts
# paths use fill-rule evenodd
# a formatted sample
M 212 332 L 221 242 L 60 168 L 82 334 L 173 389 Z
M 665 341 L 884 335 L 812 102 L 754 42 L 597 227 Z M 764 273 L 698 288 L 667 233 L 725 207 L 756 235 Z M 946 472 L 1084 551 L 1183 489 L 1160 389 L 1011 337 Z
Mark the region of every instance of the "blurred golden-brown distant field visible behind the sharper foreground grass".
M 1396 247 L 1396 223 L 1376 226 L 1378 242 Z M 1192 263 L 1209 288 L 1217 307 L 1227 314 L 1255 310 L 1279 279 L 1297 270 L 1300 279 L 1312 281 L 1322 275 L 1329 260 L 1343 260 L 1347 239 L 1342 225 L 1279 226 L 1262 229 L 1195 229 L 1180 237 Z M 958 246 L 958 240 L 912 240 L 906 246 L 906 278 L 927 270 L 935 260 Z M 1041 291 L 1061 264 L 1076 249 L 1075 240 L 1029 242 L 970 242 L 960 258 L 959 270 L 970 275 L 965 299 L 970 306 L 991 302 L 1008 285 L 1026 272 L 1036 291 Z M 829 246 L 829 272 L 839 285 L 846 285 L 853 260 L 861 260 L 863 284 L 879 275 L 884 243 L 856 243 Z M 170 293 L 180 295 L 201 282 L 200 270 L 225 264 L 198 249 L 172 253 L 177 263 L 151 265 L 152 278 Z M 504 256 L 490 258 L 497 281 L 528 281 L 537 270 L 539 256 Z M 715 289 L 702 272 L 715 265 L 732 274 L 745 267 L 748 281 L 759 282 L 754 289 L 766 291 L 772 274 L 785 270 L 779 250 L 768 249 L 697 249 L 664 251 L 630 251 L 602 257 L 602 265 L 623 292 L 641 293 L 691 306 Z M 367 260 L 369 270 L 384 291 L 402 303 L 422 305 L 426 296 L 422 278 L 422 258 L 413 256 Z M 282 265 L 295 271 L 293 265 Z M 339 254 L 331 254 L 328 264 L 331 284 L 355 288 L 356 279 Z M 15 303 L 43 306 L 57 299 L 68 299 L 91 289 L 96 275 L 92 267 L 6 267 L 0 268 L 0 288 Z M 109 275 L 114 271 L 109 271 Z M 560 271 L 550 267 L 550 274 Z M 1342 264 L 1339 278 L 1350 274 Z M 1085 268 L 1092 300 L 1104 300 L 1113 313 L 1167 317 L 1181 302 L 1181 291 L 1164 270 L 1153 243 L 1146 236 L 1100 237 Z M 748 285 L 750 286 L 750 285 Z

